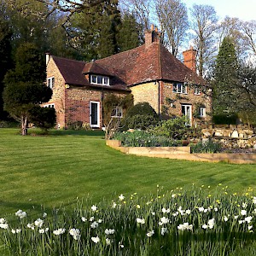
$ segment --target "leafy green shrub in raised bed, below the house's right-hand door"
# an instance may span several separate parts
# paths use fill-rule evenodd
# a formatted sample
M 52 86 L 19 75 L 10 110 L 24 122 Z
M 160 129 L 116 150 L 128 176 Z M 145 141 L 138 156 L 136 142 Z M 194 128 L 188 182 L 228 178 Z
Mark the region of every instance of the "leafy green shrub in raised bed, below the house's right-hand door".
M 169 137 L 172 139 L 186 139 L 188 137 L 198 137 L 200 135 L 196 128 L 186 125 L 185 116 L 173 119 L 163 120 L 159 125 L 150 130 L 151 133 L 158 136 Z

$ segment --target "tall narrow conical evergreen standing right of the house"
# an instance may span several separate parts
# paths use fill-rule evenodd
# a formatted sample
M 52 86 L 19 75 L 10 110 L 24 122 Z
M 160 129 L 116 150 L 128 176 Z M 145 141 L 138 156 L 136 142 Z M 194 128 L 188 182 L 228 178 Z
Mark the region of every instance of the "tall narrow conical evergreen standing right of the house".
M 241 100 L 238 61 L 232 38 L 224 38 L 218 51 L 213 87 L 213 113 L 235 113 Z

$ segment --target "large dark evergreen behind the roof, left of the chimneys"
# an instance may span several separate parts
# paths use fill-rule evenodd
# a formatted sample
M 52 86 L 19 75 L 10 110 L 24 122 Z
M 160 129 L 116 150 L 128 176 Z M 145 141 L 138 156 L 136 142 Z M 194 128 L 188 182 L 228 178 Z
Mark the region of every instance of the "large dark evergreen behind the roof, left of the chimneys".
M 73 15 L 68 29 L 73 47 L 84 52 L 84 59 L 99 59 L 119 51 L 117 34 L 120 14 L 117 3 L 106 0 L 88 10 Z

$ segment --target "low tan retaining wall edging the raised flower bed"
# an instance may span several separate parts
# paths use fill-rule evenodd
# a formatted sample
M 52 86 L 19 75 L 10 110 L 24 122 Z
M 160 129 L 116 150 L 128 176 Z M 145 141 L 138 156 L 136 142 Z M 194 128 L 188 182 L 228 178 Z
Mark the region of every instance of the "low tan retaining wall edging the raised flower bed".
M 256 164 L 256 154 L 251 153 L 190 153 L 190 147 L 121 147 L 118 140 L 106 140 L 108 147 L 125 154 L 168 158 L 176 160 L 194 160 L 204 162 L 228 162 L 232 164 Z

